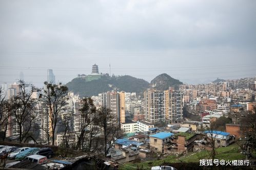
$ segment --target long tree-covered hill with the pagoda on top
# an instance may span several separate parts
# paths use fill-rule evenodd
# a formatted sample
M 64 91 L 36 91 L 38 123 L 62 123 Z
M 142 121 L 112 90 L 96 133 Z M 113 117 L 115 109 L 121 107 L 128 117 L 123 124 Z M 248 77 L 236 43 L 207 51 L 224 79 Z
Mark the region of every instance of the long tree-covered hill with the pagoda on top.
M 81 97 L 98 95 L 111 90 L 141 93 L 148 88 L 148 85 L 147 81 L 128 75 L 115 77 L 103 75 L 100 79 L 92 81 L 77 77 L 66 84 L 70 91 Z

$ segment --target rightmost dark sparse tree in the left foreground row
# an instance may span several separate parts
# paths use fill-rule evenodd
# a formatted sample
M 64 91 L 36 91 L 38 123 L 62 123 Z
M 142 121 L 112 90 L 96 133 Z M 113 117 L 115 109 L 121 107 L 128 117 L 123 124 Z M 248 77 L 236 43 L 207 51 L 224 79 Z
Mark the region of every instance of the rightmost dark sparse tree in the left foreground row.
M 107 156 L 110 148 L 114 145 L 115 140 L 120 135 L 119 126 L 113 123 L 113 115 L 110 110 L 103 107 L 98 112 L 99 123 L 103 131 L 104 155 Z

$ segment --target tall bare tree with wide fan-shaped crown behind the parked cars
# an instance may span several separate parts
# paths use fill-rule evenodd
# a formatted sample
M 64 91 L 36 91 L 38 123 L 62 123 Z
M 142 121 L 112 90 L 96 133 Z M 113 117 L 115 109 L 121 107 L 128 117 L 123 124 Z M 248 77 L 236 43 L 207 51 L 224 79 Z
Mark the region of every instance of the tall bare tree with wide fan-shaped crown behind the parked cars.
M 44 93 L 42 94 L 42 101 L 47 105 L 49 109 L 50 119 L 50 133 L 52 136 L 52 145 L 55 140 L 55 130 L 60 117 L 60 112 L 66 105 L 68 100 L 68 88 L 60 84 L 51 84 L 45 82 Z

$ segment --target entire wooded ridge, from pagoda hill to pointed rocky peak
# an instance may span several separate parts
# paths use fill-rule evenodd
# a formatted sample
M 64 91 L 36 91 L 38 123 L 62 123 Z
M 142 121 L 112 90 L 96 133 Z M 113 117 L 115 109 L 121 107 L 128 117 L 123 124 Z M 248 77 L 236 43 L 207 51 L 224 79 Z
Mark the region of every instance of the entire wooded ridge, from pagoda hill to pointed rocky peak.
M 144 79 L 135 78 L 129 75 L 108 76 L 102 75 L 100 79 L 86 81 L 84 77 L 76 77 L 66 84 L 70 91 L 79 94 L 81 97 L 95 96 L 111 90 L 136 92 L 142 94 L 148 88 L 156 90 L 168 90 L 170 86 L 178 87 L 181 81 L 172 78 L 168 74 L 156 76 L 151 83 Z

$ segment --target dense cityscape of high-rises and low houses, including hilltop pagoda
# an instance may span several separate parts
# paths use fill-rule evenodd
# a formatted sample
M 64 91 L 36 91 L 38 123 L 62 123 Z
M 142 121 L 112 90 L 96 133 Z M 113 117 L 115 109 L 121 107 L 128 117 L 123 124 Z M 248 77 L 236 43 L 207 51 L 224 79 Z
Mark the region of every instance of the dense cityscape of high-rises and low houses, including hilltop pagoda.
M 98 66 L 93 65 L 91 74 L 80 78 L 97 81 L 102 76 Z M 105 159 L 108 168 L 147 168 L 140 166 L 168 157 L 188 159 L 194 153 L 201 154 L 200 164 L 203 158 L 216 161 L 218 148 L 235 147 L 238 151 L 232 158 L 244 160 L 239 166 L 249 166 L 256 141 L 255 77 L 180 84 L 178 89 L 155 87 L 145 89 L 141 95 L 113 89 L 80 97 L 55 83 L 53 70 L 47 71 L 42 89 L 23 79 L 1 84 L 1 141 L 6 144 L 1 145 L 1 151 L 9 150 L 7 145 L 17 150 L 18 146 L 28 147 L 21 156 L 8 155 L 7 163 L 13 162 L 11 158 L 20 162 L 38 152 L 40 146 L 48 146 L 51 154 L 45 156 L 60 161 L 39 168 L 70 168 L 68 163 L 72 161 L 74 164 L 95 156 Z M 36 147 L 31 147 L 32 143 Z M 29 167 L 18 162 L 7 167 Z

